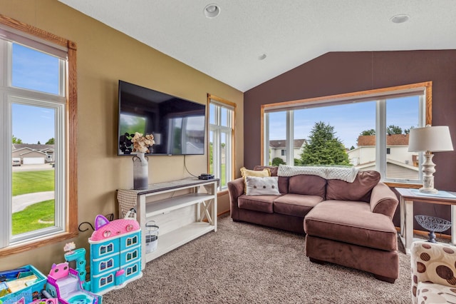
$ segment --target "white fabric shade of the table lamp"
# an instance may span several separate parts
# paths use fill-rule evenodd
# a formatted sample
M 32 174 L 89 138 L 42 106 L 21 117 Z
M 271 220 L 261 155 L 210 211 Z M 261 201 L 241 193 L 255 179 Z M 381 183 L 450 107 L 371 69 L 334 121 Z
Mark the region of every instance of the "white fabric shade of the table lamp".
M 453 151 L 450 128 L 447 126 L 426 126 L 425 128 L 411 128 L 408 140 L 408 151 Z

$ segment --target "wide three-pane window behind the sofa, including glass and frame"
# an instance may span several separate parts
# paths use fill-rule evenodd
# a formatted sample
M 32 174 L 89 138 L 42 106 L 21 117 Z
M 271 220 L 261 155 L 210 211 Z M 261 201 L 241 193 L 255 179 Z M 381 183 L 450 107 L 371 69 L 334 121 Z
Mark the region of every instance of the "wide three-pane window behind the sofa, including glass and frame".
M 415 83 L 264 105 L 262 163 L 274 163 L 281 142 L 290 165 L 356 166 L 386 182 L 419 184 L 422 156 L 408 152 L 408 133 L 431 123 L 431 90 Z M 318 148 L 323 138 L 336 150 Z

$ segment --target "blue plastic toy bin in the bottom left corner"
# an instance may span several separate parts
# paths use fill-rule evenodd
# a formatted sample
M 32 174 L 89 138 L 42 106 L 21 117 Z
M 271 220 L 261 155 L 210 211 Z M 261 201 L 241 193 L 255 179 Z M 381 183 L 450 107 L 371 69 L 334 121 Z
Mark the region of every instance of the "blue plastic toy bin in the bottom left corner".
M 29 285 L 26 288 L 18 290 L 14 293 L 9 293 L 0 297 L 1 304 L 11 304 L 16 303 L 24 297 L 25 303 L 31 303 L 33 300 L 41 298 L 41 290 L 45 288 L 47 277 L 43 275 L 38 269 L 33 267 L 33 265 L 25 265 L 21 268 L 26 268 L 30 270 L 34 275 L 36 275 L 36 282 L 33 285 Z M 2 270 L 2 269 L 0 269 Z

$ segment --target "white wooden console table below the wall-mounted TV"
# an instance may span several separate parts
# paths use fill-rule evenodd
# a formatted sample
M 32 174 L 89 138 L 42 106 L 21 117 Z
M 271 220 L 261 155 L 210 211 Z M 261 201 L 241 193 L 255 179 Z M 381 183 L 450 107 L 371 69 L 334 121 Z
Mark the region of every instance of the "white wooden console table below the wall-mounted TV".
M 119 218 L 135 208 L 141 226 L 142 269 L 146 262 L 205 233 L 217 231 L 218 181 L 186 178 L 153 183 L 145 190 L 118 190 Z M 148 221 L 155 221 L 160 228 L 157 249 L 150 253 L 146 253 L 145 246 Z

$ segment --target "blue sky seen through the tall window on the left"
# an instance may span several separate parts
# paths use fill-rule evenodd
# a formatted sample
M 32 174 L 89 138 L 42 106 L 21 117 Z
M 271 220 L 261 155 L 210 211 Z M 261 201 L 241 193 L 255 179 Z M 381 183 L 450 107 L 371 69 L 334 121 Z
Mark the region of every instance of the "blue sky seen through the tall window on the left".
M 58 94 L 58 59 L 40 51 L 13 44 L 12 85 Z M 23 143 L 46 143 L 55 138 L 55 110 L 13 104 L 13 135 Z

